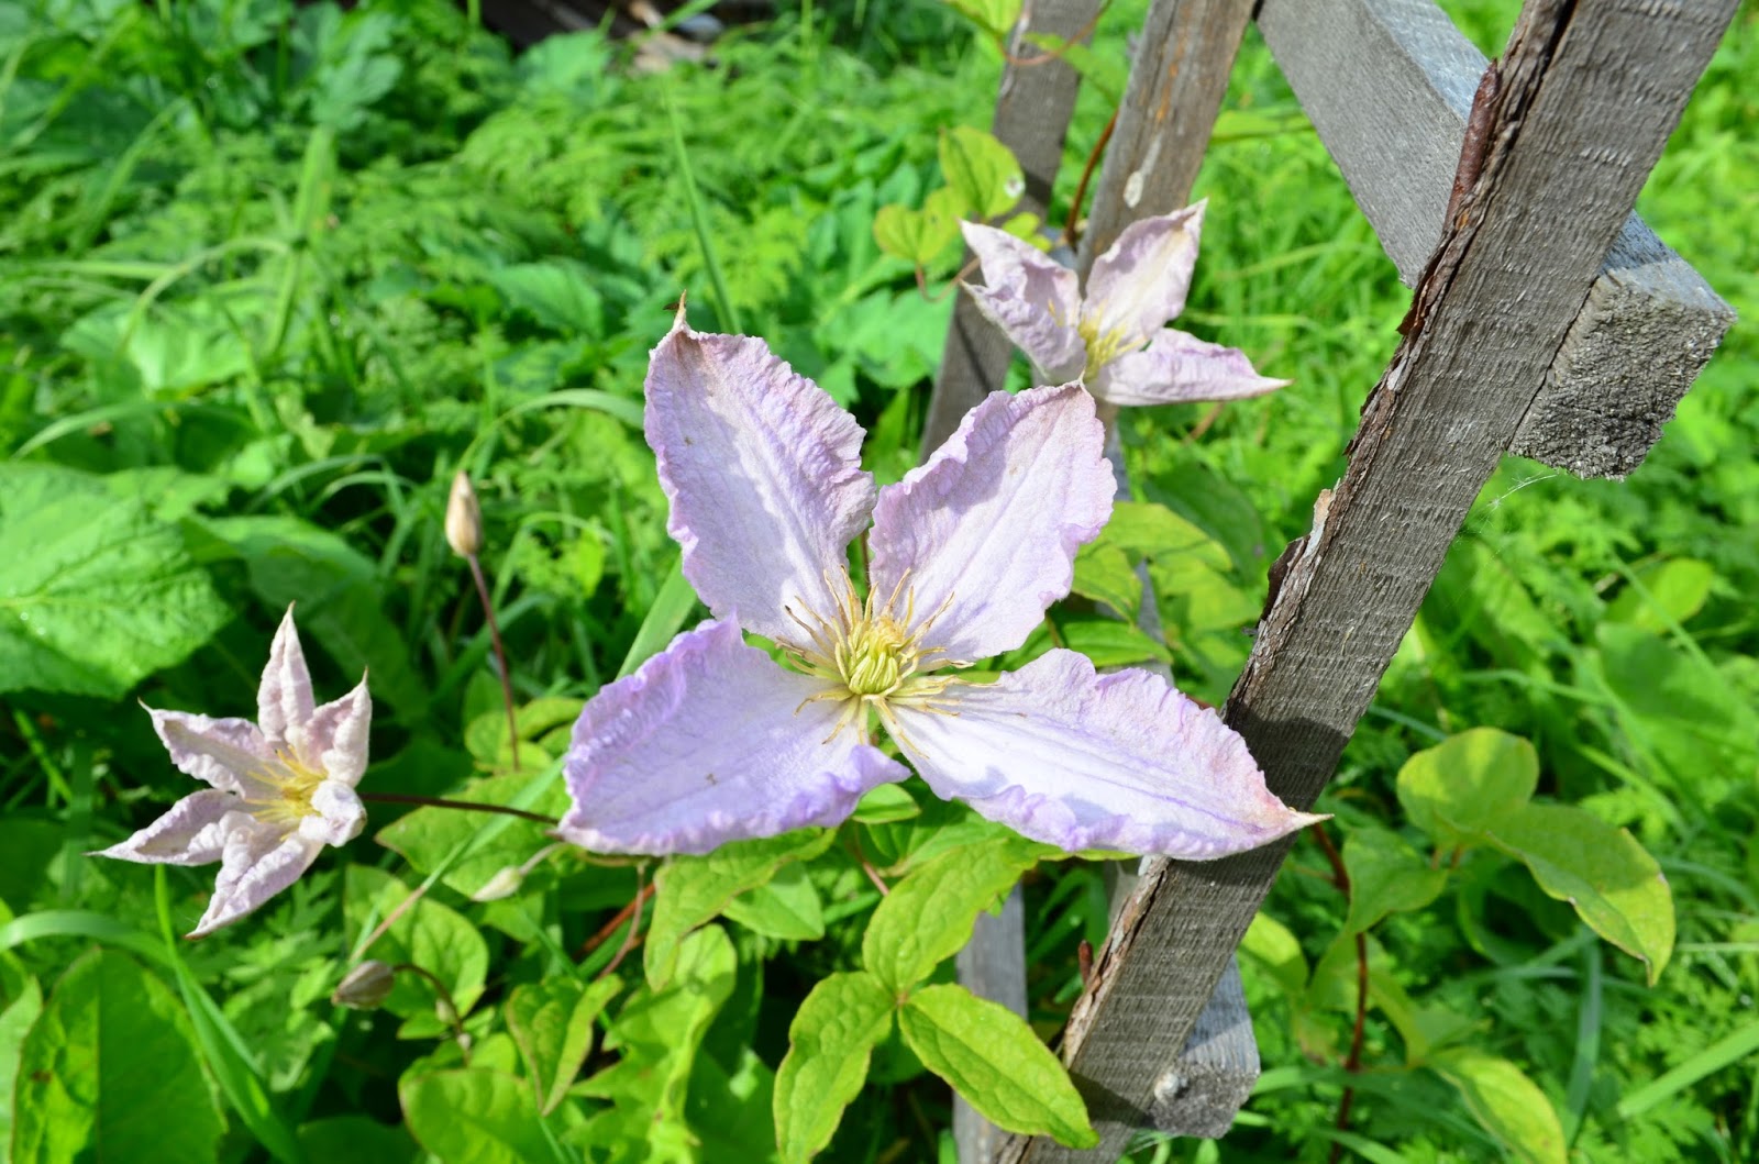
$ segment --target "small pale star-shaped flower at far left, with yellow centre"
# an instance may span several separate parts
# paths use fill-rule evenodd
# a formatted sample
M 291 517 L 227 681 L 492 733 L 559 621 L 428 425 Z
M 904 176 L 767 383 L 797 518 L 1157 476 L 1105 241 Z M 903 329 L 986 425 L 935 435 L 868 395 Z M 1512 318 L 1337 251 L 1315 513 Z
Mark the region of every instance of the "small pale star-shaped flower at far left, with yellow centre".
M 93 856 L 220 862 L 215 895 L 190 937 L 237 921 L 297 881 L 325 844 L 361 835 L 366 809 L 354 786 L 366 772 L 373 700 L 362 675 L 354 691 L 315 707 L 292 607 L 257 687 L 257 723 L 146 710 L 171 761 L 209 788 Z

